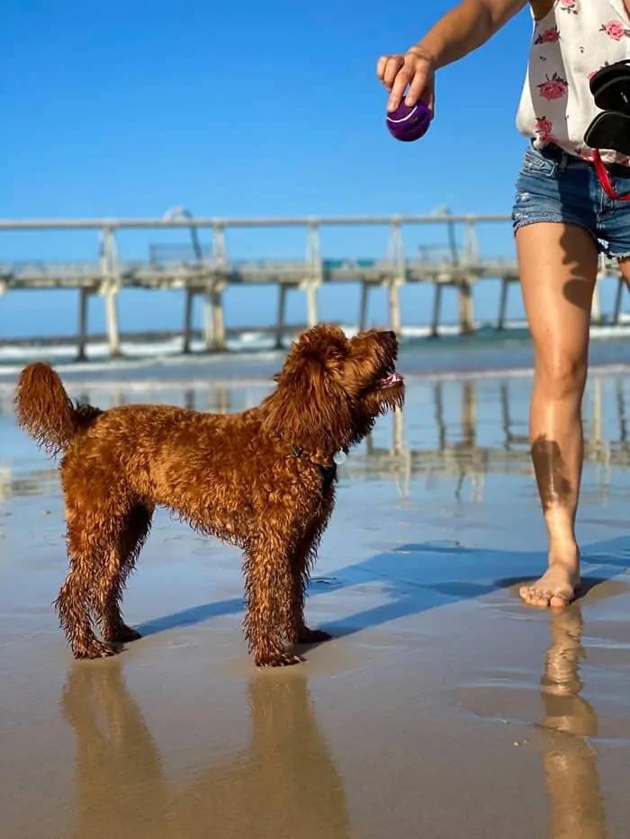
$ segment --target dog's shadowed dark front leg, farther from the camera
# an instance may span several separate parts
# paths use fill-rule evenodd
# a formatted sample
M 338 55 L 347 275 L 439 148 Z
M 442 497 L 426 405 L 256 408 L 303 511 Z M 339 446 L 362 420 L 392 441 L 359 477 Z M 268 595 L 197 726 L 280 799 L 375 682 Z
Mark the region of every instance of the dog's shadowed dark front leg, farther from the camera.
M 291 601 L 286 616 L 286 638 L 290 644 L 316 644 L 330 638 L 323 629 L 310 629 L 304 622 L 304 601 L 317 549 L 329 522 L 331 505 L 327 505 L 298 541 L 290 558 Z

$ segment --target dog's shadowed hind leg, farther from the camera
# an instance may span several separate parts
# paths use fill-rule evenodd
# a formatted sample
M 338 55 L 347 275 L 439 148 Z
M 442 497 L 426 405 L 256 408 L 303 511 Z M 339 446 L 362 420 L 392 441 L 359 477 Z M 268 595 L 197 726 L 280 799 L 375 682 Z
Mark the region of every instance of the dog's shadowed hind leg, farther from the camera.
M 103 566 L 94 578 L 91 596 L 96 620 L 101 625 L 103 639 L 107 642 L 124 643 L 140 638 L 136 629 L 131 629 L 122 620 L 121 596 L 127 577 L 133 570 L 139 552 L 148 537 L 151 527 L 153 506 L 136 504 L 122 519 L 117 538 L 108 546 Z

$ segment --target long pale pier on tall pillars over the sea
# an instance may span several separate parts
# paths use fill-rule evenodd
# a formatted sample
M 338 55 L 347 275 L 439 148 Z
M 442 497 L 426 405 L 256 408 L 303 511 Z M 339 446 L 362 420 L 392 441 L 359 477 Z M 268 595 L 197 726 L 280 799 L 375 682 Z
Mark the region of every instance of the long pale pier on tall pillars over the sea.
M 177 217 L 179 216 L 179 218 Z M 165 219 L 88 219 L 14 221 L 0 219 L 0 234 L 5 231 L 44 230 L 70 232 L 94 230 L 99 237 L 98 258 L 94 262 L 44 263 L 37 261 L 2 261 L 0 236 L 0 296 L 11 290 L 74 289 L 79 292 L 77 355 L 85 358 L 88 342 L 97 336 L 90 335 L 87 323 L 88 300 L 91 296 L 103 298 L 106 338 L 112 356 L 121 353 L 121 336 L 118 318 L 118 294 L 123 289 L 184 290 L 182 351 L 191 351 L 193 330 L 193 301 L 203 301 L 202 340 L 207 352 L 223 351 L 228 335 L 248 331 L 247 327 L 230 327 L 225 321 L 224 295 L 226 290 L 243 285 L 272 285 L 278 289 L 277 318 L 274 326 L 257 332 L 269 331 L 280 345 L 286 335 L 318 322 L 318 290 L 324 284 L 338 285 L 358 282 L 361 301 L 357 326 L 367 326 L 370 293 L 385 289 L 388 297 L 388 324 L 398 331 L 401 328 L 401 289 L 409 284 L 430 284 L 434 289 L 434 304 L 430 323 L 432 335 L 439 335 L 441 306 L 445 289 L 453 289 L 458 298 L 458 323 L 462 334 L 474 331 L 473 290 L 476 284 L 487 279 L 500 280 L 501 291 L 496 328 L 506 323 L 509 288 L 518 282 L 515 259 L 498 259 L 479 253 L 476 230 L 481 224 L 508 223 L 505 215 L 455 216 L 448 213 L 429 216 L 357 217 L 357 218 L 306 218 L 306 219 L 193 219 L 186 211 L 171 213 Z M 446 226 L 450 246 L 446 253 L 419 254 L 409 257 L 403 244 L 403 229 L 419 226 Z M 383 259 L 327 259 L 322 255 L 320 231 L 325 227 L 381 227 L 389 228 L 389 249 Z M 456 228 L 464 228 L 463 244 L 456 245 Z M 190 245 L 150 245 L 146 260 L 121 258 L 117 234 L 121 230 L 155 228 L 182 228 L 190 237 Z M 226 245 L 226 232 L 230 228 L 303 228 L 306 253 L 303 260 L 238 260 L 230 259 Z M 211 232 L 211 247 L 203 251 L 199 245 L 198 231 Z M 612 263 L 600 262 L 600 279 L 617 277 L 617 297 L 614 311 L 608 322 L 617 324 L 621 315 L 623 280 Z M 286 322 L 286 299 L 289 290 L 301 290 L 306 299 L 306 323 Z M 0 301 L 0 310 L 2 303 Z M 593 303 L 593 320 L 601 322 L 599 294 Z M 163 337 L 164 334 L 161 335 Z M 36 338 L 37 336 L 32 336 Z M 138 339 L 138 335 L 130 336 Z M 146 337 L 146 336 L 145 336 Z M 0 343 L 18 344 L 4 339 Z M 67 342 L 64 342 L 67 343 Z

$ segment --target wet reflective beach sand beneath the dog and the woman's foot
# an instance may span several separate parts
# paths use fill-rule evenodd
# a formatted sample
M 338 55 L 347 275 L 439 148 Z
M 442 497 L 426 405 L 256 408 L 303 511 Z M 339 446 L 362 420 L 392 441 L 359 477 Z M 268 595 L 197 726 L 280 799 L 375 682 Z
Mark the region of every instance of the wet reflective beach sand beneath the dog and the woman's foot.
M 333 640 L 262 673 L 238 551 L 166 514 L 123 602 L 144 638 L 72 661 L 56 471 L 0 394 L 3 839 L 626 837 L 630 386 L 591 378 L 584 594 L 556 615 L 518 600 L 545 563 L 529 387 L 410 380 L 342 470 L 307 606 Z M 237 410 L 266 390 L 171 388 L 85 395 Z

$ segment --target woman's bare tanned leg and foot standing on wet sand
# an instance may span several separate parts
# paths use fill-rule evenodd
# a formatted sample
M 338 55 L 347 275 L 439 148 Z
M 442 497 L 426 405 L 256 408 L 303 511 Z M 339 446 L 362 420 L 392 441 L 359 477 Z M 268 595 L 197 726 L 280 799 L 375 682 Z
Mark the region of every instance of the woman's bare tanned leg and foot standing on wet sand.
M 549 531 L 549 567 L 520 594 L 533 606 L 564 606 L 580 585 L 581 400 L 598 254 L 586 230 L 546 222 L 520 228 L 517 251 L 535 352 L 529 439 Z

